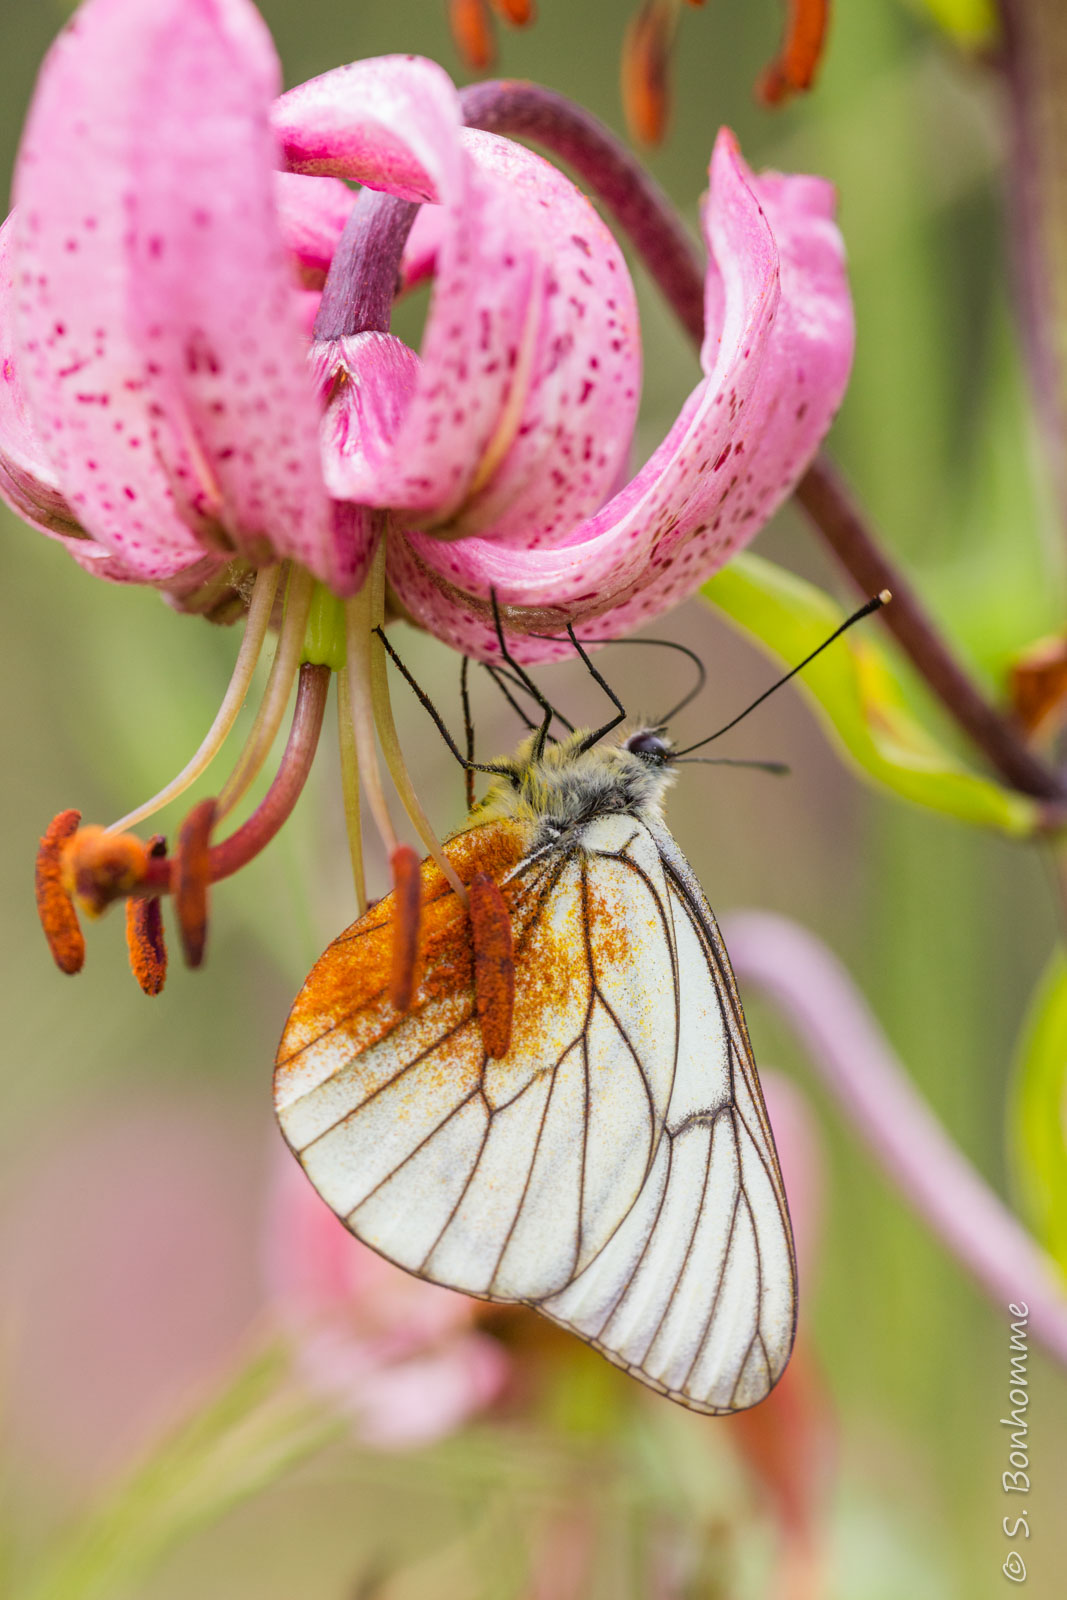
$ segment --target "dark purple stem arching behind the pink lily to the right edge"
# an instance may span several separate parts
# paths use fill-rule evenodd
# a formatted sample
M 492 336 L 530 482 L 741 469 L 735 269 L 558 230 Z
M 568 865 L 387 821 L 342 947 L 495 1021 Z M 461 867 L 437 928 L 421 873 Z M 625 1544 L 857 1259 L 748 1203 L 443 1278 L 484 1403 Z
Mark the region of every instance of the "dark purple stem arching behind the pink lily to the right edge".
M 1056 6 L 1059 0 L 1045 3 Z M 629 235 L 683 328 L 699 344 L 704 338 L 701 251 L 667 195 L 622 141 L 584 107 L 536 83 L 477 83 L 462 90 L 461 99 L 470 126 L 534 139 L 574 168 Z M 862 594 L 893 592 L 893 605 L 881 611 L 885 626 L 990 765 L 1024 794 L 1067 800 L 1067 786 L 1027 749 L 955 659 L 825 458 L 808 469 L 797 499 Z

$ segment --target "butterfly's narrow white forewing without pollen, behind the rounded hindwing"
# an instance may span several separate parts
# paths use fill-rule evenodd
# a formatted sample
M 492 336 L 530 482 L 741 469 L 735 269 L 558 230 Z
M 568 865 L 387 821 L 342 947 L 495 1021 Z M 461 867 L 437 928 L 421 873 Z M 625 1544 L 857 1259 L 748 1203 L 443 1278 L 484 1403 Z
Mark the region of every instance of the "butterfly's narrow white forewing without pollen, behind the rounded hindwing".
M 653 824 L 678 995 L 678 1062 L 637 1205 L 539 1310 L 672 1400 L 761 1400 L 793 1344 L 785 1192 L 729 958 L 688 862 Z

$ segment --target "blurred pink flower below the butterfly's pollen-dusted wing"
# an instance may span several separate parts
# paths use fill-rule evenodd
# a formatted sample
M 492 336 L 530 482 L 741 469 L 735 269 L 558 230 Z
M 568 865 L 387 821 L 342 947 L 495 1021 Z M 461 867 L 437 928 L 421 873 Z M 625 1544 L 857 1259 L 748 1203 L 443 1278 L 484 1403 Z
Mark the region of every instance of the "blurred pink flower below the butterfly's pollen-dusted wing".
M 440 1438 L 491 1405 L 509 1378 L 478 1302 L 422 1283 L 360 1245 L 288 1155 L 264 1237 L 267 1291 L 299 1371 L 370 1445 Z

